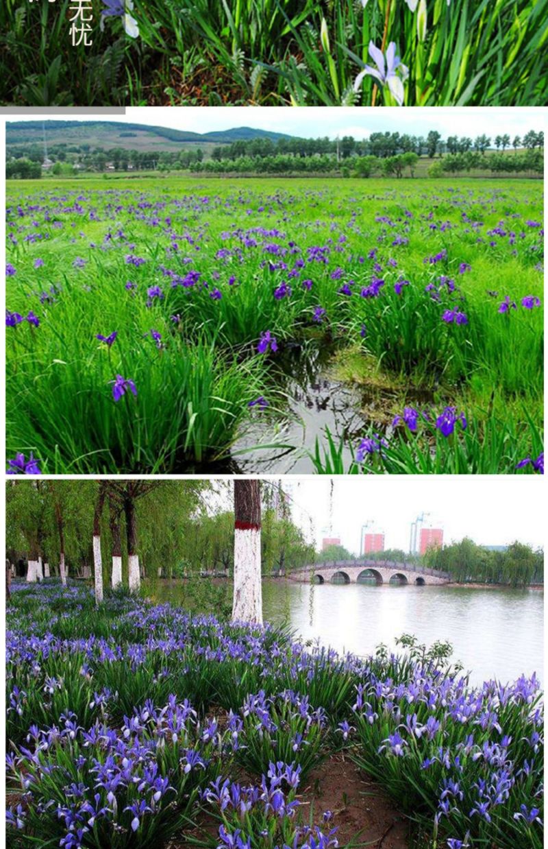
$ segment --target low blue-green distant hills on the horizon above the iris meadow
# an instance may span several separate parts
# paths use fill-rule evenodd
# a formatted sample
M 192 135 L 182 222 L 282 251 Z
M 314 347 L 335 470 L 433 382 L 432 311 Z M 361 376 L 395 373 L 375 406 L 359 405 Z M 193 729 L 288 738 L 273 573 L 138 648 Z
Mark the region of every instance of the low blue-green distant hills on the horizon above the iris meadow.
M 184 110 L 182 110 L 184 111 Z M 183 116 L 182 116 L 183 119 Z M 191 132 L 171 127 L 147 127 L 126 121 L 44 121 L 48 144 L 89 144 L 93 149 L 121 148 L 125 150 L 181 150 L 182 145 L 210 148 L 253 138 L 292 138 L 282 132 L 235 127 L 215 132 Z M 42 121 L 8 121 L 6 143 L 18 146 L 42 143 Z

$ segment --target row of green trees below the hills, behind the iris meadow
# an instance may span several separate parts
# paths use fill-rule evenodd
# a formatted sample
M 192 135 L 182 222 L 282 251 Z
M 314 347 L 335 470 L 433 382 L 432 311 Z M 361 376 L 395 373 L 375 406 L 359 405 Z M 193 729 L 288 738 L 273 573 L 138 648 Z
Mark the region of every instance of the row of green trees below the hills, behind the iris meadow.
M 477 168 L 478 156 L 485 156 L 495 147 L 500 156 L 505 155 L 506 149 L 524 150 L 525 154 L 536 153 L 536 159 L 519 160 L 521 165 L 541 159 L 544 147 L 544 133 L 530 130 L 523 137 L 509 134 L 498 135 L 495 139 L 484 133 L 471 138 L 467 136 L 450 136 L 441 138 L 439 132 L 430 131 L 426 138 L 411 136 L 399 132 L 373 132 L 369 138 L 358 141 L 352 136 L 340 139 L 324 138 L 281 138 L 276 142 L 270 138 L 240 139 L 226 145 L 215 147 L 210 158 L 199 147 L 179 151 L 132 150 L 124 148 L 92 149 L 88 143 L 64 144 L 56 143 L 48 150 L 48 158 L 52 163 L 51 170 L 57 176 L 72 176 L 78 171 L 204 171 L 205 173 L 226 173 L 227 171 L 258 171 L 280 173 L 289 169 L 300 173 L 327 173 L 340 171 L 348 173 L 349 163 L 355 165 L 355 160 L 378 162 L 377 171 L 386 173 L 383 160 L 394 160 L 406 157 L 407 163 L 412 158 L 427 156 L 443 160 L 464 162 L 466 167 L 453 167 L 453 173 L 470 171 Z M 474 155 L 476 157 L 474 158 Z M 458 159 L 464 157 L 464 159 Z M 491 158 L 491 157 L 489 157 Z M 517 171 L 517 162 L 512 166 L 513 157 L 505 157 L 498 161 L 499 171 Z M 6 177 L 36 178 L 42 174 L 44 150 L 42 145 L 9 145 L 7 149 Z M 396 167 L 400 160 L 396 161 Z M 232 167 L 231 167 L 232 163 Z M 372 167 L 372 166 L 370 166 Z M 362 166 L 363 170 L 363 166 Z M 530 170 L 530 169 L 526 169 Z M 533 169 L 534 170 L 534 169 Z M 390 173 L 390 171 L 389 171 Z M 392 171 L 395 173 L 395 171 Z M 362 175 L 363 176 L 363 175 Z M 396 176 L 401 176 L 396 174 Z

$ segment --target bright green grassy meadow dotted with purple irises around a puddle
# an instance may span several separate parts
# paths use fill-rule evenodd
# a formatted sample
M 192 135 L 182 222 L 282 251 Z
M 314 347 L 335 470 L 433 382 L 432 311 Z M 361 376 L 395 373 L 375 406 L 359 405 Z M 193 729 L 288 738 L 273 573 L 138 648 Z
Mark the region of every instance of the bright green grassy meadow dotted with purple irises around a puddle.
M 8 458 L 218 468 L 329 346 L 377 405 L 310 470 L 540 470 L 541 221 L 527 180 L 11 183 Z

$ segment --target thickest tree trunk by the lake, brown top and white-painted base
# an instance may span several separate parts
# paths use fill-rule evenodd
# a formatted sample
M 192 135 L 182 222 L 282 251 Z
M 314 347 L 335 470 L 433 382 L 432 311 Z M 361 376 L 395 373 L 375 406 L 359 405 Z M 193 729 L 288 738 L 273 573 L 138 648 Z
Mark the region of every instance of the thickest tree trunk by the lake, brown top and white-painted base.
M 262 624 L 259 481 L 234 481 L 234 596 L 232 621 Z

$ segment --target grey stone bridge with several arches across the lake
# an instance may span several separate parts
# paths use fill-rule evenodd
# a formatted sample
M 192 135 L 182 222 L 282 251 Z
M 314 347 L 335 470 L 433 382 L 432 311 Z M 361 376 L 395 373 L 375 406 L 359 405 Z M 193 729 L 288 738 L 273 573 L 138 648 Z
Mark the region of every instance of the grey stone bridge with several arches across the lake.
M 447 572 L 427 569 L 414 563 L 396 563 L 392 560 L 338 560 L 305 566 L 291 572 L 293 581 L 305 583 L 368 583 L 368 584 L 445 584 L 450 581 Z

